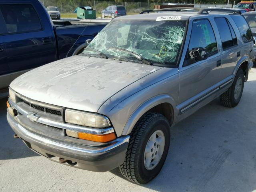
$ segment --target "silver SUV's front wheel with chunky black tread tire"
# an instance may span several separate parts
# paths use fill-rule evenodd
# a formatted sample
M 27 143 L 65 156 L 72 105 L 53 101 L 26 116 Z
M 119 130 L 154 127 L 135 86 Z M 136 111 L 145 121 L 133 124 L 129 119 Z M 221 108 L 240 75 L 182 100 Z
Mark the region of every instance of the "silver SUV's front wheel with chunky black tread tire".
M 122 175 L 132 182 L 146 184 L 160 172 L 170 145 L 168 120 L 154 112 L 144 114 L 130 133 Z

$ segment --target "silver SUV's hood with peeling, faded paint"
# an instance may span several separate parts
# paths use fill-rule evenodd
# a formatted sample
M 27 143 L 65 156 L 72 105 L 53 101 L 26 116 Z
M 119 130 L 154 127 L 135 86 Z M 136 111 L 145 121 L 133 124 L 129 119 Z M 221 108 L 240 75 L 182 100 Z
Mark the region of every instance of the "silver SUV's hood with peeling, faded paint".
M 16 78 L 10 87 L 36 101 L 97 112 L 114 94 L 161 67 L 72 56 Z

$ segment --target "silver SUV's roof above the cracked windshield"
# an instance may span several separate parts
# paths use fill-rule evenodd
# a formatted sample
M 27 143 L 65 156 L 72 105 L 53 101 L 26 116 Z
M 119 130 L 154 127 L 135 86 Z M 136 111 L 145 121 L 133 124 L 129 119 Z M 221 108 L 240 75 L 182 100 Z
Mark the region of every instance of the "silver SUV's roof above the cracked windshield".
M 209 15 L 230 15 L 232 13 L 228 12 L 209 12 L 209 14 L 198 14 L 198 12 L 154 12 L 149 14 L 136 14 L 117 17 L 115 20 L 156 20 L 160 16 L 180 16 L 180 20 L 188 20 L 190 17 L 194 16 L 209 16 Z

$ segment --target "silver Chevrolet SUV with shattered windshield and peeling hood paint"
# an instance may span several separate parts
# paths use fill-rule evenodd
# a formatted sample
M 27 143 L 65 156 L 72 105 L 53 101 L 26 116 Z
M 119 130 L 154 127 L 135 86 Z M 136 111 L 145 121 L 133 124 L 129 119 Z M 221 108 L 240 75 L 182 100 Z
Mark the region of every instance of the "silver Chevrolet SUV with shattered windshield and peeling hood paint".
M 82 54 L 16 78 L 7 102 L 15 137 L 55 162 L 152 180 L 170 126 L 218 96 L 235 107 L 254 58 L 243 16 L 167 11 L 116 18 Z

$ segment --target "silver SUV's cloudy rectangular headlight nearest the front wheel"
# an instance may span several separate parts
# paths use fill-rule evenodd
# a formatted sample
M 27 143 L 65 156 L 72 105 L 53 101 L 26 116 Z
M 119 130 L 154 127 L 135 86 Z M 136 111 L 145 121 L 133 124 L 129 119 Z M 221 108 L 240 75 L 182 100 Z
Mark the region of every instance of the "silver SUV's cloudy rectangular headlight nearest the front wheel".
M 67 123 L 95 128 L 104 128 L 111 125 L 109 119 L 105 116 L 72 109 L 66 109 L 65 121 Z

